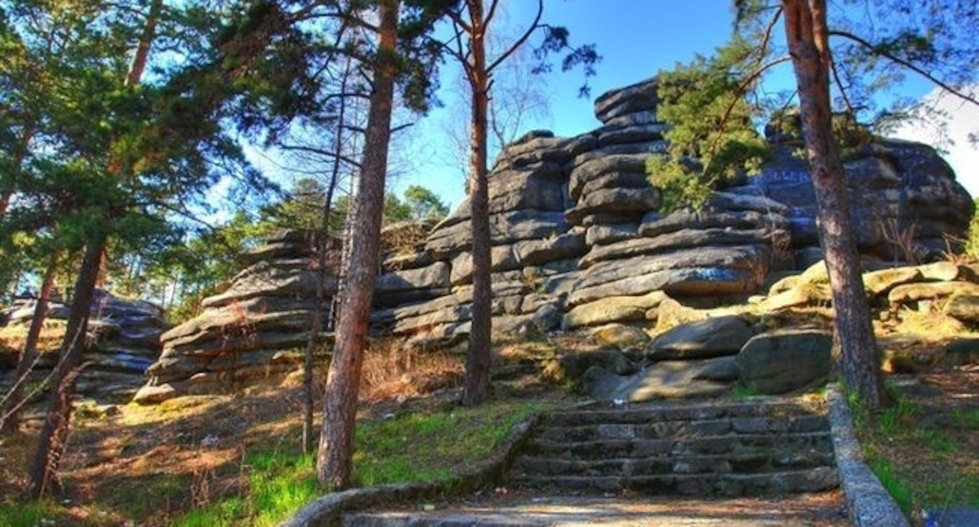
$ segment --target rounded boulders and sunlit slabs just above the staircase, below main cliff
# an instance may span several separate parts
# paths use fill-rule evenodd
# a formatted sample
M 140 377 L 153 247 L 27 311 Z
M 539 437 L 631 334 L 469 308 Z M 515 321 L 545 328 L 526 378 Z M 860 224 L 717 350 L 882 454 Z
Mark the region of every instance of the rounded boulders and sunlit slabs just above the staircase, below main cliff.
M 615 342 L 600 336 L 609 326 L 592 329 L 593 338 L 607 346 L 565 355 L 552 361 L 544 375 L 570 382 L 580 393 L 606 401 L 700 397 L 738 385 L 758 394 L 813 386 L 830 373 L 831 331 L 826 326 L 798 326 L 791 322 L 791 316 L 785 321 L 779 319 L 795 310 L 812 313 L 814 308 L 831 305 L 825 269 L 823 262 L 817 262 L 803 273 L 771 285 L 768 296 L 756 296 L 750 304 L 691 310 L 699 316 L 689 316 L 690 322 L 659 332 L 640 352 L 635 350 L 634 338 Z M 967 328 L 979 328 L 976 311 L 968 307 L 979 305 L 975 292 L 979 285 L 977 264 L 941 261 L 869 270 L 862 278 L 877 319 L 917 314 L 911 316 L 937 321 L 945 316 Z M 798 301 L 779 300 L 786 297 Z M 660 299 L 660 310 L 673 309 L 670 306 L 671 299 Z M 979 341 L 975 339 L 926 346 L 931 349 L 927 353 L 922 353 L 920 346 L 906 351 L 901 339 L 897 343 L 881 340 L 879 344 L 884 351 L 883 366 L 892 372 L 968 364 L 979 356 Z

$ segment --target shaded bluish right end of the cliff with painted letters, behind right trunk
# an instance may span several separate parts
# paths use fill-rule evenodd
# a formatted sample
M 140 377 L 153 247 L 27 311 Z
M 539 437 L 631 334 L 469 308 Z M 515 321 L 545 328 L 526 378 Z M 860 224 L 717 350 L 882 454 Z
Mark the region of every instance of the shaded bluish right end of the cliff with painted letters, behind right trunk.
M 790 209 L 795 267 L 822 258 L 816 228 L 816 193 L 802 142 L 769 135 L 773 159 L 762 174 L 727 192 L 764 196 Z M 886 262 L 930 260 L 957 250 L 975 205 L 949 164 L 920 143 L 876 139 L 844 160 L 853 225 L 861 253 Z

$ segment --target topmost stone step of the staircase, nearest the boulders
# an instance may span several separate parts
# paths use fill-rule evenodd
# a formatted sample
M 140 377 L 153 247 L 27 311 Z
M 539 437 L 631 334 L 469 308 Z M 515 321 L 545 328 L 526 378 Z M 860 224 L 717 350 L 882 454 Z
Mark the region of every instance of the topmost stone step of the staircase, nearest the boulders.
M 743 402 L 658 404 L 628 408 L 599 408 L 553 412 L 543 418 L 544 426 L 586 424 L 648 424 L 676 420 L 712 420 L 732 417 L 821 416 L 811 406 L 794 401 L 747 400 Z

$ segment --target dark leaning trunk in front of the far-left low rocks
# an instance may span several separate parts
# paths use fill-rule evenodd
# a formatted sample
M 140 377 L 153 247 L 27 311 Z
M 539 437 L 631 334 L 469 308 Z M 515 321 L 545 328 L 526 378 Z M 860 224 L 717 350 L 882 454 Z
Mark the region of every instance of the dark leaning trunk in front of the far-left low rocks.
M 85 247 L 85 255 L 74 284 L 74 299 L 62 343 L 61 359 L 55 367 L 53 391 L 48 396 L 48 411 L 30 466 L 30 497 L 39 499 L 57 481 L 58 466 L 65 454 L 71 418 L 71 393 L 78 373 L 81 355 L 85 351 L 86 329 L 99 263 L 106 247 L 105 233 L 99 233 Z

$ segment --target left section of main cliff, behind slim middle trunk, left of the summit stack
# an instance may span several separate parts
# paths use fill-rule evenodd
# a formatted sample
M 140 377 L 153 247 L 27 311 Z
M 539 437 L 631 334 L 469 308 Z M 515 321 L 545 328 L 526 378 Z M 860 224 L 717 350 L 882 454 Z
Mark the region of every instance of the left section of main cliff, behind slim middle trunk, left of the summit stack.
M 585 250 L 584 232 L 565 218 L 569 207 L 563 164 L 587 143 L 528 134 L 496 162 L 489 176 L 489 225 L 493 305 L 497 329 L 515 329 L 535 320 L 560 319 L 559 298 L 570 284 Z M 452 344 L 469 331 L 472 304 L 472 237 L 468 199 L 437 225 L 417 262 L 378 278 L 392 284 L 444 291 L 420 302 L 392 305 L 381 294 L 376 324 L 418 342 Z M 427 280 L 427 281 L 426 281 Z M 550 316 L 548 316 L 550 314 Z M 546 325 L 546 324 L 545 324 Z

